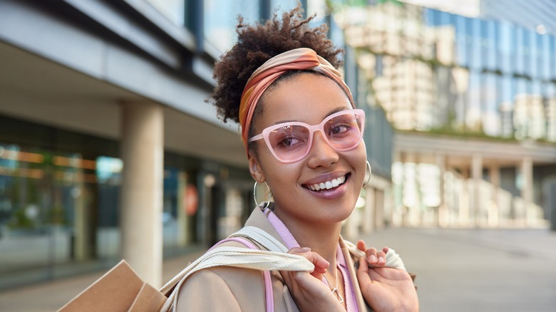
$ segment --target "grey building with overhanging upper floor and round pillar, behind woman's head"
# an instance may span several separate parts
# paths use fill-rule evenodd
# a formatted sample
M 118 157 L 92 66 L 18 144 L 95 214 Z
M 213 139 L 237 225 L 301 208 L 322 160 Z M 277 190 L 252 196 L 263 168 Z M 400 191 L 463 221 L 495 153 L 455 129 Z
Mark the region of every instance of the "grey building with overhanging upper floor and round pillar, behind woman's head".
M 205 98 L 237 14 L 278 4 L 297 1 L 0 1 L 0 289 L 121 257 L 160 285 L 164 256 L 242 225 L 254 199 L 239 129 Z M 343 44 L 334 24 L 331 37 Z M 374 140 L 358 212 L 376 221 L 353 234 L 383 224 L 393 130 L 349 49 L 344 72 Z

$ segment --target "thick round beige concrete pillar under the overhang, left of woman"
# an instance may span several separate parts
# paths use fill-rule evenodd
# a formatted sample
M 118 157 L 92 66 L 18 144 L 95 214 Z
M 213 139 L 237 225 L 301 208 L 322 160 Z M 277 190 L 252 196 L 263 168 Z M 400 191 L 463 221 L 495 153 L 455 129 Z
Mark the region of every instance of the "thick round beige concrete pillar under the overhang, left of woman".
M 123 103 L 120 227 L 123 259 L 162 284 L 164 113 L 155 103 Z

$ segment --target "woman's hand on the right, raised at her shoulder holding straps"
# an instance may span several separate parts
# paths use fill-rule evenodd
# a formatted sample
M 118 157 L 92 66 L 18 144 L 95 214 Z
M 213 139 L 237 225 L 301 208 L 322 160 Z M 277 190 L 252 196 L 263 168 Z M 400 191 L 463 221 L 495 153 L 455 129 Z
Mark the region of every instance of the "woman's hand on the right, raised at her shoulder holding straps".
M 419 311 L 417 291 L 407 271 L 381 267 L 386 264 L 386 252 L 366 249 L 364 241 L 357 242 L 357 249 L 366 256 L 359 259 L 357 279 L 365 301 L 374 311 Z M 369 267 L 372 264 L 374 267 Z

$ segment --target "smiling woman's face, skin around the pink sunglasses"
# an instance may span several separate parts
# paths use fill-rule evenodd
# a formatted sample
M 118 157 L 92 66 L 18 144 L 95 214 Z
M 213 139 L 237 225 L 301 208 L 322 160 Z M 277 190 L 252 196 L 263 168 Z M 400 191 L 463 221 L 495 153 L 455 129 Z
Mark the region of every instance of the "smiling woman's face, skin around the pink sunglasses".
M 302 73 L 267 90 L 262 115 L 254 120 L 254 133 L 277 123 L 300 121 L 317 125 L 340 110 L 351 109 L 349 99 L 333 80 Z M 366 171 L 366 149 L 361 140 L 353 150 L 338 152 L 314 132 L 309 154 L 302 160 L 284 163 L 270 152 L 264 140 L 257 140 L 258 157 L 249 157 L 252 175 L 269 184 L 274 212 L 287 225 L 333 224 L 354 209 Z M 343 184 L 314 191 L 310 186 L 345 178 Z

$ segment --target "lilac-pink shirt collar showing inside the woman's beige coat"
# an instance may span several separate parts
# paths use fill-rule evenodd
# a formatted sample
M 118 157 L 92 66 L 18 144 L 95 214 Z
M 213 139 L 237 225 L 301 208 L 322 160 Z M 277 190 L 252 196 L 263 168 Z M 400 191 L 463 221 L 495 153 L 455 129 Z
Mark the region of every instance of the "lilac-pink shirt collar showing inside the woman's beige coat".
M 282 220 L 278 219 L 276 214 L 270 209 L 264 209 L 264 214 L 267 216 L 268 221 L 272 224 L 272 227 L 276 229 L 276 232 L 280 235 L 282 240 L 286 243 L 287 249 L 292 249 L 294 247 L 300 247 L 294 236 L 289 229 L 287 229 L 286 224 Z M 349 312 L 359 311 L 357 308 L 357 303 L 355 299 L 354 287 L 351 285 L 351 276 L 349 276 L 349 271 L 346 266 L 346 259 L 344 258 L 344 253 L 341 252 L 340 244 L 338 243 L 338 250 L 336 251 L 336 266 L 341 272 L 341 276 L 344 278 L 344 289 L 346 290 L 346 310 Z M 323 283 L 328 285 L 326 280 L 322 279 Z

